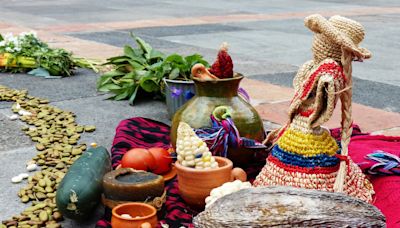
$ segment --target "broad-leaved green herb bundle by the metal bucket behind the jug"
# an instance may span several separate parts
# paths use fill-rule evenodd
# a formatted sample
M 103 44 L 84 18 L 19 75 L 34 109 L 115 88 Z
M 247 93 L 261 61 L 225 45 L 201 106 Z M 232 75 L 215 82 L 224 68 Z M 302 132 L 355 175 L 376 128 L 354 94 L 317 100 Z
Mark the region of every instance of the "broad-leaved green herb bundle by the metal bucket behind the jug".
M 166 56 L 153 49 L 140 37 L 131 33 L 137 47 L 125 45 L 124 54 L 109 58 L 105 65 L 113 70 L 103 74 L 97 81 L 97 89 L 111 92 L 110 99 L 129 99 L 133 104 L 139 91 L 155 96 L 164 92 L 163 78 L 175 80 L 191 80 L 191 68 L 196 63 L 209 66 L 199 54 L 183 57 L 179 54 Z

